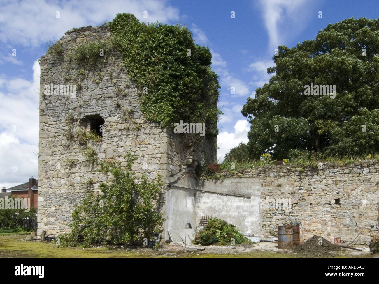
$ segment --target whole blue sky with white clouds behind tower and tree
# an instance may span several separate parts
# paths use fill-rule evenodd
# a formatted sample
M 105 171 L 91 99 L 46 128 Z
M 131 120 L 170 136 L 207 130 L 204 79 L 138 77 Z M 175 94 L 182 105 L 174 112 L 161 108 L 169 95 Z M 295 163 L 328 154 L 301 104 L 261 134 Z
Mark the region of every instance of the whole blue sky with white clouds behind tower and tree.
M 320 29 L 346 18 L 377 19 L 379 1 L 0 0 L 1 187 L 38 177 L 37 60 L 45 54 L 46 42 L 60 39 L 73 27 L 101 25 L 122 12 L 144 22 L 180 22 L 193 32 L 196 43 L 209 46 L 212 68 L 220 77 L 219 107 L 225 113 L 218 137 L 217 156 L 222 161 L 230 148 L 247 142 L 250 127 L 240 112 L 255 89 L 268 82 L 267 68 L 273 66 L 275 48 L 315 39 Z M 235 94 L 230 93 L 231 87 Z

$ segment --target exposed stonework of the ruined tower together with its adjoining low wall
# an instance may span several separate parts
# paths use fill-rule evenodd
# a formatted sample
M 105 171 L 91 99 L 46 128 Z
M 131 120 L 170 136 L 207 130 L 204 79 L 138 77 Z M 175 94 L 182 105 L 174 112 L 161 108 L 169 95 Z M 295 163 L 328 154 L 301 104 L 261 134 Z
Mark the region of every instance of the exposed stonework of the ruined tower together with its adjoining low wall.
M 70 231 L 74 205 L 82 202 L 88 190 L 98 191 L 100 182 L 110 178 L 94 171 L 97 162 L 110 159 L 125 166 L 123 156 L 130 152 L 137 157 L 132 169 L 138 179 L 146 174 L 153 180 L 159 174 L 164 183 L 176 184 L 172 192 L 163 194 L 163 202 L 157 205 L 163 215 L 176 212 L 183 218 L 191 217 L 188 217 L 193 219 L 191 222 L 196 223 L 195 219 L 201 217 L 197 215 L 206 214 L 209 208 L 215 212 L 233 208 L 245 210 L 250 203 L 255 207 L 241 214 L 234 210 L 236 217 L 233 218 L 247 216 L 239 222 L 250 222 L 247 229 L 260 230 L 252 233 L 276 234 L 278 225 L 299 220 L 304 240 L 318 234 L 349 243 L 359 235 L 355 242 L 367 245 L 378 235 L 377 161 L 345 166 L 326 163 L 323 169 L 312 170 L 280 165 L 222 171 L 219 175 L 229 178 L 224 186 L 195 186 L 190 190 L 185 189 L 186 185 L 180 187 L 180 179 L 193 176 L 197 165 L 216 160 L 216 138 L 205 135 L 196 144 L 197 137 L 193 135 L 173 133 L 169 127 L 162 128 L 146 121 L 140 109 L 142 90 L 128 78 L 117 51 L 111 50 L 106 54 L 106 62 L 97 67 L 75 64 L 72 59 L 75 47 L 110 37 L 107 26 L 72 29 L 60 39 L 61 56 L 47 54 L 41 57 L 38 234 L 42 230 L 55 235 Z M 51 84 L 70 85 L 72 89 L 75 86 L 76 92 L 46 94 L 45 85 Z M 80 139 L 81 132 L 100 124 L 103 125 L 100 140 Z M 248 182 L 230 182 L 236 178 L 246 178 Z M 254 198 L 241 195 L 237 188 L 254 192 Z M 202 192 L 196 196 L 195 191 Z M 218 198 L 218 195 L 223 197 Z M 167 198 L 171 198 L 169 202 Z M 221 204 L 219 208 L 216 208 L 217 201 Z M 280 206 L 277 206 L 278 201 Z M 225 208 L 226 204 L 230 208 Z M 172 217 L 169 224 L 173 229 L 185 226 L 185 218 L 168 217 Z

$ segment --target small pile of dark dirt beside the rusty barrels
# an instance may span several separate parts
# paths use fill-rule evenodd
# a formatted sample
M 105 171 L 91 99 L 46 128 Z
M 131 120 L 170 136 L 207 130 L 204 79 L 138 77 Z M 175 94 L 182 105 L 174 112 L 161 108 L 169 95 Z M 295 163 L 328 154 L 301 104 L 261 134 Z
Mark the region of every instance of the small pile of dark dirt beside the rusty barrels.
M 341 247 L 327 241 L 323 237 L 314 235 L 304 244 L 293 248 L 295 253 L 309 254 L 316 256 L 327 256 L 330 251 L 341 250 Z

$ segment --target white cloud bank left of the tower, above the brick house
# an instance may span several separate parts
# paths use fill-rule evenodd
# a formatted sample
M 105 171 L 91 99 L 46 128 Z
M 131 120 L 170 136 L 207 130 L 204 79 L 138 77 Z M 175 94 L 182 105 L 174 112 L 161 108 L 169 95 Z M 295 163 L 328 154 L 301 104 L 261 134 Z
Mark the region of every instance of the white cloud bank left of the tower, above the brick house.
M 38 177 L 39 74 L 35 61 L 33 81 L 0 75 L 0 186 Z

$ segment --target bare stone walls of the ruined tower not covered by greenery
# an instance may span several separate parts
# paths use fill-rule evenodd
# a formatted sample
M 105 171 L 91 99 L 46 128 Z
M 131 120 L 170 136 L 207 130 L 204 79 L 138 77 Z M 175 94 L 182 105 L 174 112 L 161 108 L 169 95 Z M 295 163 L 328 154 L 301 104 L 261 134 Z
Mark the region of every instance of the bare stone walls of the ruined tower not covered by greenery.
M 74 47 L 110 36 L 107 26 L 72 29 L 60 39 L 62 56 L 41 57 L 38 234 L 42 230 L 47 234 L 70 231 L 74 205 L 109 178 L 94 172 L 99 160 L 113 159 L 125 166 L 123 156 L 130 152 L 137 157 L 132 169 L 138 178 L 146 174 L 153 180 L 160 174 L 163 181 L 186 164 L 186 154 L 177 152 L 191 146 L 178 144 L 175 135 L 180 133 L 146 121 L 140 110 L 142 90 L 125 74 L 117 51 L 111 50 L 108 60 L 98 67 L 75 65 Z M 76 93 L 46 95 L 45 85 L 52 83 L 75 86 Z M 91 115 L 104 119 L 102 139 L 80 143 L 78 133 L 89 126 L 83 118 Z M 96 152 L 94 164 L 86 157 L 88 149 Z M 197 157 L 216 154 L 215 149 L 199 154 L 201 151 L 204 147 L 193 149 Z M 170 167 L 170 162 L 174 166 Z M 164 214 L 164 202 L 160 210 Z

